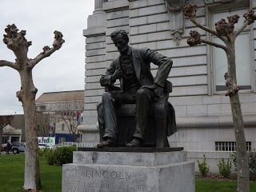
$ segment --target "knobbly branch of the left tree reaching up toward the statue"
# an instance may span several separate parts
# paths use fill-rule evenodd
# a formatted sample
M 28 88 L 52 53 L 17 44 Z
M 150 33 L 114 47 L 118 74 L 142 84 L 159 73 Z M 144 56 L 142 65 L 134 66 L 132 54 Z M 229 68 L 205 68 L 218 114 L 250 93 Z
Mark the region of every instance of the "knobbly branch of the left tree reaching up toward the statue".
M 60 49 L 62 47 L 62 44 L 65 42 L 65 40 L 62 38 L 63 35 L 61 32 L 55 30 L 54 31 L 54 43 L 53 47 L 50 48 L 49 46 L 44 46 L 42 53 L 38 54 L 37 57 L 34 59 L 30 59 L 30 61 L 27 63 L 27 66 L 30 67 L 30 69 L 33 69 L 38 62 L 40 62 L 43 58 L 49 57 L 51 54 L 53 54 L 56 50 Z

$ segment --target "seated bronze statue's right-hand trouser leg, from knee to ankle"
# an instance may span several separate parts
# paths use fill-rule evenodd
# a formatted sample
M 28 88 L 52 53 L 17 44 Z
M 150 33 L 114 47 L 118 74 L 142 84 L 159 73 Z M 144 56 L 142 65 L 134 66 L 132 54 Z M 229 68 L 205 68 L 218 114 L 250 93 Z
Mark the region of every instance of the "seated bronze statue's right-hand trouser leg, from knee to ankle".
M 147 116 L 150 111 L 150 104 L 155 98 L 154 91 L 142 88 L 137 91 L 136 97 L 136 130 L 134 138 L 145 139 Z

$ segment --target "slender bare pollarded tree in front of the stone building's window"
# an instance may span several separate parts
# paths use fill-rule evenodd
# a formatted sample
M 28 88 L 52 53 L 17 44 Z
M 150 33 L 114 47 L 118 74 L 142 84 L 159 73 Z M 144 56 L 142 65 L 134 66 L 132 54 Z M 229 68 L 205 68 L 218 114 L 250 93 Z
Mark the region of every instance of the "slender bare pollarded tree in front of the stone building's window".
M 227 68 L 228 71 L 224 75 L 226 79 L 227 92 L 226 96 L 230 97 L 230 105 L 232 110 L 232 117 L 234 122 L 234 135 L 237 142 L 237 159 L 238 159 L 238 192 L 248 192 L 250 191 L 249 183 L 249 166 L 248 166 L 248 154 L 246 153 L 246 138 L 244 134 L 243 118 L 241 104 L 239 101 L 236 78 L 236 63 L 235 63 L 235 39 L 238 37 L 238 34 L 250 25 L 256 19 L 256 15 L 253 10 L 250 10 L 249 13 L 243 15 L 245 21 L 243 25 L 237 30 L 234 31 L 234 24 L 238 22 L 238 14 L 227 17 L 228 22 L 225 19 L 221 19 L 219 22 L 215 23 L 215 30 L 210 29 L 207 26 L 202 26 L 198 23 L 196 19 L 197 6 L 188 5 L 184 9 L 184 14 L 186 17 L 190 18 L 190 21 L 194 23 L 195 26 L 198 26 L 202 30 L 213 34 L 217 38 L 221 39 L 224 42 L 224 45 L 218 44 L 216 42 L 211 42 L 206 39 L 202 39 L 198 31 L 190 31 L 190 38 L 187 40 L 187 43 L 190 46 L 196 46 L 201 43 L 206 43 L 210 46 L 218 47 L 225 51 L 227 58 Z

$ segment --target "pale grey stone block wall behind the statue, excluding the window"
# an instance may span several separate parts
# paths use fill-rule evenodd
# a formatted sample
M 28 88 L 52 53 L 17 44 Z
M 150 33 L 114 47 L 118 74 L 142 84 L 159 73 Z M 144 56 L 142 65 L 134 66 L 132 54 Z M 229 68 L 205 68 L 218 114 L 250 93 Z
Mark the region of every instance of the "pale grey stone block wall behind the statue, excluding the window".
M 214 1 L 190 2 L 198 6 L 198 21 L 207 25 L 210 14 L 208 7 L 215 5 Z M 207 6 L 205 2 L 208 2 Z M 256 2 L 250 1 L 250 6 L 255 9 Z M 187 18 L 182 18 L 184 30 L 178 44 L 173 34 L 174 16 L 174 12 L 168 11 L 165 0 L 112 0 L 102 2 L 102 9 L 90 15 L 87 29 L 84 30 L 86 85 L 84 125 L 80 127 L 81 131 L 85 131 L 86 127 L 97 130 L 96 105 L 101 102 L 104 92 L 99 78 L 113 58 L 118 56 L 109 35 L 116 29 L 122 29 L 129 32 L 131 46 L 147 46 L 174 61 L 169 76 L 174 89 L 169 100 L 176 110 L 178 132 L 169 138 L 171 146 L 183 146 L 185 150 L 214 150 L 214 142 L 234 141 L 229 98 L 225 97 L 225 92 L 214 92 L 210 47 L 190 47 L 186 43 L 190 30 L 198 30 L 202 38 L 207 37 L 206 33 L 194 27 Z M 250 29 L 255 47 L 255 24 Z M 251 136 L 256 134 L 255 66 L 253 69 L 253 88 L 251 91 L 241 91 L 240 100 L 246 140 L 252 142 L 252 148 L 255 149 L 256 138 Z M 156 71 L 156 67 L 152 66 L 152 73 L 156 74 Z

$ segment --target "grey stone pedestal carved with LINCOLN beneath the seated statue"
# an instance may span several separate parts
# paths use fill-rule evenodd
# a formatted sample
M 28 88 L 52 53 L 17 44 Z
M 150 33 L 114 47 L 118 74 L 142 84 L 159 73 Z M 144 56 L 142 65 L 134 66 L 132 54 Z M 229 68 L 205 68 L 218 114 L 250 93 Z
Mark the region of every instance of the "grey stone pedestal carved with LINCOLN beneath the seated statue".
M 185 151 L 109 149 L 74 152 L 73 163 L 62 168 L 62 192 L 195 190 L 194 162 L 186 161 Z

